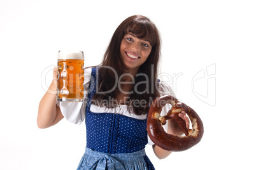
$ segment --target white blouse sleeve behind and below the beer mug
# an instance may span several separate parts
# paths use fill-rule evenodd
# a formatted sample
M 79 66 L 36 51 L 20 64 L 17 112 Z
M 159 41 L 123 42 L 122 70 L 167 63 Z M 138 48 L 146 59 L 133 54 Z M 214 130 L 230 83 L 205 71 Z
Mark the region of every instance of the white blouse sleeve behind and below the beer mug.
M 90 84 L 90 75 L 92 74 L 92 68 L 87 68 L 84 70 L 85 79 L 83 81 L 84 87 L 84 102 L 67 102 L 67 101 L 57 101 L 57 106 L 60 107 L 62 115 L 64 115 L 65 119 L 74 124 L 81 124 L 85 119 L 85 108 L 87 95 L 89 91 Z

